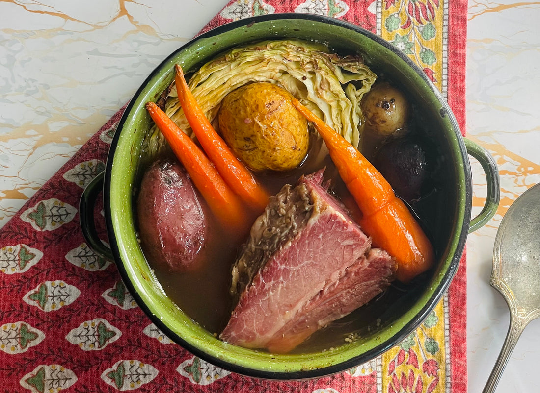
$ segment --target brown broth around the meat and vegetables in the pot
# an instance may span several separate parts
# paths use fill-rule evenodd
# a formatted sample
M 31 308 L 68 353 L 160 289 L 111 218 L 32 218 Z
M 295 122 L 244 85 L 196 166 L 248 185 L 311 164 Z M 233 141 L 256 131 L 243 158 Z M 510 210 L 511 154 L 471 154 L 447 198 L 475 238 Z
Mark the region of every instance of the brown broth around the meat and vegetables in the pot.
M 420 129 L 420 128 L 417 128 Z M 422 131 L 422 134 L 424 132 Z M 376 141 L 379 143 L 380 141 Z M 361 148 L 363 153 L 370 158 L 376 149 L 377 143 L 366 140 Z M 264 174 L 257 176 L 262 185 L 272 194 L 276 194 L 284 184 L 296 184 L 300 176 L 310 174 L 326 167 L 325 179 L 331 179 L 330 191 L 333 192 L 347 206 L 353 218 L 360 214 L 354 200 L 341 181 L 338 171 L 329 156 L 323 160 L 317 158 L 321 142 L 312 139 L 311 150 L 302 165 L 286 174 Z M 435 176 L 437 177 L 437 176 Z M 444 182 L 444 176 L 442 176 Z M 443 195 L 441 197 L 441 194 Z M 414 212 L 419 213 L 420 223 L 426 230 L 428 237 L 434 242 L 434 247 L 440 248 L 441 238 L 446 238 L 446 232 L 438 230 L 437 219 L 444 210 L 447 197 L 444 192 L 434 192 L 431 196 L 420 201 L 410 203 Z M 248 209 L 246 208 L 246 212 Z M 426 219 L 426 217 L 430 219 Z M 253 217 L 254 219 L 255 217 Z M 232 311 L 232 298 L 229 294 L 231 284 L 231 267 L 238 256 L 241 244 L 245 238 L 233 239 L 228 232 L 210 217 L 210 232 L 207 245 L 202 250 L 201 258 L 204 264 L 198 271 L 187 273 L 171 273 L 161 270 L 159 266 L 149 261 L 154 268 L 156 277 L 170 297 L 193 321 L 206 328 L 210 333 L 217 334 L 225 327 Z M 437 232 L 438 231 L 438 232 Z M 437 242 L 437 239 L 439 241 Z M 442 240 L 442 244 L 444 244 Z M 402 313 L 404 305 L 411 304 L 419 297 L 428 281 L 427 276 L 433 274 L 427 272 L 417 277 L 410 285 L 394 282 L 386 291 L 360 307 L 344 318 L 330 323 L 324 329 L 319 330 L 293 353 L 306 353 L 309 351 L 321 351 L 336 347 L 348 342 L 376 334 L 376 330 L 390 325 L 395 315 Z

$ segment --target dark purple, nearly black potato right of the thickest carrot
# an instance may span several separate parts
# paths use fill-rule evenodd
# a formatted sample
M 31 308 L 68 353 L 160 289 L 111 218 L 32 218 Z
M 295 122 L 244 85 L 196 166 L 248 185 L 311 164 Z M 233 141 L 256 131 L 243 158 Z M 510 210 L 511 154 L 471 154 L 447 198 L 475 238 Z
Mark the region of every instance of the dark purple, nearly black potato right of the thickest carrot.
M 396 139 L 384 144 L 373 160 L 396 194 L 406 201 L 419 198 L 428 177 L 426 152 L 419 143 Z

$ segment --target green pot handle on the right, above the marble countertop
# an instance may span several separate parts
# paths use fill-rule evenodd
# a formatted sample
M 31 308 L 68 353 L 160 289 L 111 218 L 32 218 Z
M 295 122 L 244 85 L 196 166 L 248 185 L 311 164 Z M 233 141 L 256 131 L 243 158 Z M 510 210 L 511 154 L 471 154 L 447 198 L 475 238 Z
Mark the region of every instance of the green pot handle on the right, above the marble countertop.
M 488 195 L 485 197 L 484 208 L 478 216 L 471 219 L 469 226 L 469 233 L 471 233 L 484 226 L 497 212 L 500 200 L 499 171 L 495 160 L 487 150 L 470 139 L 464 138 L 464 141 L 467 153 L 475 157 L 484 169 L 485 180 L 488 185 Z

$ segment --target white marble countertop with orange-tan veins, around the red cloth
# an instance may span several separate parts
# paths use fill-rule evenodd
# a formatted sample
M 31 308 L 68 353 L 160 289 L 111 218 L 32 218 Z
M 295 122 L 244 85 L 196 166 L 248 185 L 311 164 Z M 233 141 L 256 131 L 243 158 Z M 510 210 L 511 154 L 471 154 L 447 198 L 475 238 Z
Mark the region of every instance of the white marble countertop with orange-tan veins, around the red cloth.
M 226 3 L 183 0 L 180 11 L 172 0 L 0 2 L 0 227 Z M 478 392 L 509 325 L 489 286 L 497 227 L 540 182 L 540 3 L 471 0 L 468 19 L 467 133 L 501 175 L 497 215 L 468 239 L 468 379 Z M 473 177 L 477 213 L 485 197 L 477 163 Z M 537 391 L 539 333 L 540 321 L 525 329 L 497 391 Z

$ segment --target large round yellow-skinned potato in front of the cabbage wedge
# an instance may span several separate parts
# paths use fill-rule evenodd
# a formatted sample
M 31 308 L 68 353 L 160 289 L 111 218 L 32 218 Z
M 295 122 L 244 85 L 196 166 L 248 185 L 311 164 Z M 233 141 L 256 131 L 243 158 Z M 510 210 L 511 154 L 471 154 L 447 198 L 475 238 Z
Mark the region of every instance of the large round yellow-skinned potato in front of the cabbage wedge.
M 221 134 L 249 169 L 287 171 L 306 157 L 307 121 L 292 99 L 279 86 L 257 82 L 235 89 L 221 102 Z

